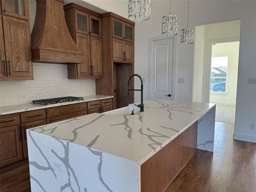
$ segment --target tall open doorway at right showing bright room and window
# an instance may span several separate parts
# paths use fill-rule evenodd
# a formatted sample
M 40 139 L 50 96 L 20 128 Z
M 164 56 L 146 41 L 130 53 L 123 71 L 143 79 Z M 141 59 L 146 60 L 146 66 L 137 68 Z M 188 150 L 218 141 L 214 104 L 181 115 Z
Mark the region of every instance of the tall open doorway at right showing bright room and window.
M 235 124 L 241 20 L 196 26 L 193 101 L 216 103 L 216 121 Z

